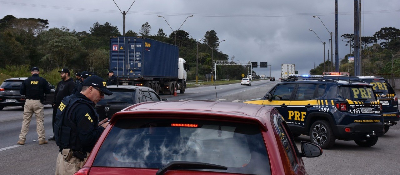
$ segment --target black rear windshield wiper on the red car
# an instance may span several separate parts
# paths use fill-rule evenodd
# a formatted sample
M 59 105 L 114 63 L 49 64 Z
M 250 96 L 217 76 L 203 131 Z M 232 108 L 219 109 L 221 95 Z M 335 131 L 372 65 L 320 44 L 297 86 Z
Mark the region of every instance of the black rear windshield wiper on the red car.
M 172 161 L 160 168 L 156 175 L 162 175 L 168 169 L 228 169 L 228 167 L 202 162 Z

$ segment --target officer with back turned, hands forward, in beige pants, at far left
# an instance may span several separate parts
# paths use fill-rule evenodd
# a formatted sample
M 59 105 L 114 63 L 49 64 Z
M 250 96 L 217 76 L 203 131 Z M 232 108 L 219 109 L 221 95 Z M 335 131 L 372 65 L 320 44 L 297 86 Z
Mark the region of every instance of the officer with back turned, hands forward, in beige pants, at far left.
M 24 145 L 26 134 L 29 131 L 30 120 L 33 113 L 36 116 L 36 131 L 39 135 L 39 145 L 46 144 L 46 133 L 44 131 L 44 94 L 50 93 L 50 84 L 46 79 L 39 77 L 39 68 L 33 67 L 30 70 L 31 77 L 22 82 L 20 87 L 21 95 L 25 95 L 24 115 L 22 119 L 22 128 L 17 144 Z

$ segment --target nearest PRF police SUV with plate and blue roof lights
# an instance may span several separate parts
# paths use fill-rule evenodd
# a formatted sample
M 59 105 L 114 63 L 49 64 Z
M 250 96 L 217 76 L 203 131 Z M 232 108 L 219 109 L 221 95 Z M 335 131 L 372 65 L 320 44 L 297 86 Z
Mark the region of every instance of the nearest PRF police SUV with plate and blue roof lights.
M 382 105 L 372 84 L 290 75 L 261 99 L 244 103 L 275 107 L 294 136 L 309 135 L 323 149 L 336 139 L 371 147 L 384 134 Z

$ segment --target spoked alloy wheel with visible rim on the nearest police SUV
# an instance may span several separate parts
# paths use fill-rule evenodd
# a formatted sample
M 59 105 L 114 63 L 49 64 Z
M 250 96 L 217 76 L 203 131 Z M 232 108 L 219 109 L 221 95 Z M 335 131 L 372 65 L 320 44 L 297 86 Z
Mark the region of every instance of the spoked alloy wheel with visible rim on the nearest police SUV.
M 318 120 L 312 123 L 310 128 L 310 141 L 317 144 L 322 149 L 329 149 L 335 143 L 332 127 L 328 121 Z

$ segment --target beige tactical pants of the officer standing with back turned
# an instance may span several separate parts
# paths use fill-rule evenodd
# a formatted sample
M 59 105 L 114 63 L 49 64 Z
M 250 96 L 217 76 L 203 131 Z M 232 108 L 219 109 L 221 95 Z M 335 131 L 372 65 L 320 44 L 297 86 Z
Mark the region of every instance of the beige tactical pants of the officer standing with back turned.
M 43 104 L 40 103 L 40 100 L 34 99 L 26 99 L 24 105 L 24 115 L 22 118 L 22 128 L 20 133 L 20 140 L 26 140 L 26 134 L 29 131 L 30 120 L 32 119 L 32 115 L 35 113 L 36 116 L 36 132 L 38 133 L 39 141 L 46 140 L 46 133 L 44 131 L 44 109 Z

